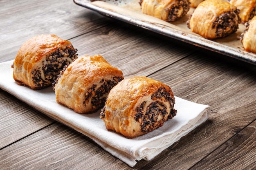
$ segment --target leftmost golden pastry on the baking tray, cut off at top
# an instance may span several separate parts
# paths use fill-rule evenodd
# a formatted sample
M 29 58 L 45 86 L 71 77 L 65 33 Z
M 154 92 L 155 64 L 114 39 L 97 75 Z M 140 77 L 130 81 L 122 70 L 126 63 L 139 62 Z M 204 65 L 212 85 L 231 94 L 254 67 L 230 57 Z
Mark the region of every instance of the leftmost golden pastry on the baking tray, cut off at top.
M 142 13 L 164 21 L 175 21 L 190 9 L 189 0 L 140 0 Z

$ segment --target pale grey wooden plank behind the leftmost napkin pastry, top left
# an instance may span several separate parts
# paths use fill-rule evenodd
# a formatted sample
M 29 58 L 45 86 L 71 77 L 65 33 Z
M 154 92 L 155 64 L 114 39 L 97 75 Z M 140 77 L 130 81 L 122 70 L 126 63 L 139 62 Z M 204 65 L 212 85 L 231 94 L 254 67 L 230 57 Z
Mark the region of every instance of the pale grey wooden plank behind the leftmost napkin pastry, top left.
M 0 7 L 0 62 L 14 59 L 21 44 L 34 35 L 56 34 L 69 40 L 111 21 L 72 0 L 1 0 Z

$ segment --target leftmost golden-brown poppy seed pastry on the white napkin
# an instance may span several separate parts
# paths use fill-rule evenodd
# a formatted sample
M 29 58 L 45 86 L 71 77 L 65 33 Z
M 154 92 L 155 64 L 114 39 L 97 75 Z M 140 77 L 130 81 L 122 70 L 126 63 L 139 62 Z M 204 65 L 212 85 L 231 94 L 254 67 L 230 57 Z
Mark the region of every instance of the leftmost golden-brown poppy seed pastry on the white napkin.
M 76 51 L 71 42 L 56 35 L 34 36 L 18 50 L 13 79 L 32 89 L 50 86 L 63 67 L 77 58 Z

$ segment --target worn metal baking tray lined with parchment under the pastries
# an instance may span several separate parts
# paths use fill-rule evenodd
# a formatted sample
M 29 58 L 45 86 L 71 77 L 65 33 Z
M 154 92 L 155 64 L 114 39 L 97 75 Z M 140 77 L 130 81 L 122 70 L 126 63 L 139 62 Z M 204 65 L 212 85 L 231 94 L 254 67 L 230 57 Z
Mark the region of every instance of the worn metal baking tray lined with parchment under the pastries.
M 165 22 L 143 14 L 139 6 L 139 0 L 102 0 L 93 2 L 90 0 L 74 0 L 74 3 L 143 29 L 256 65 L 256 54 L 245 51 L 243 44 L 239 41 L 240 35 L 245 29 L 243 24 L 239 24 L 238 31 L 226 38 L 207 40 L 198 34 L 192 33 L 186 25 L 189 15 L 194 10 L 193 8 L 179 20 Z

